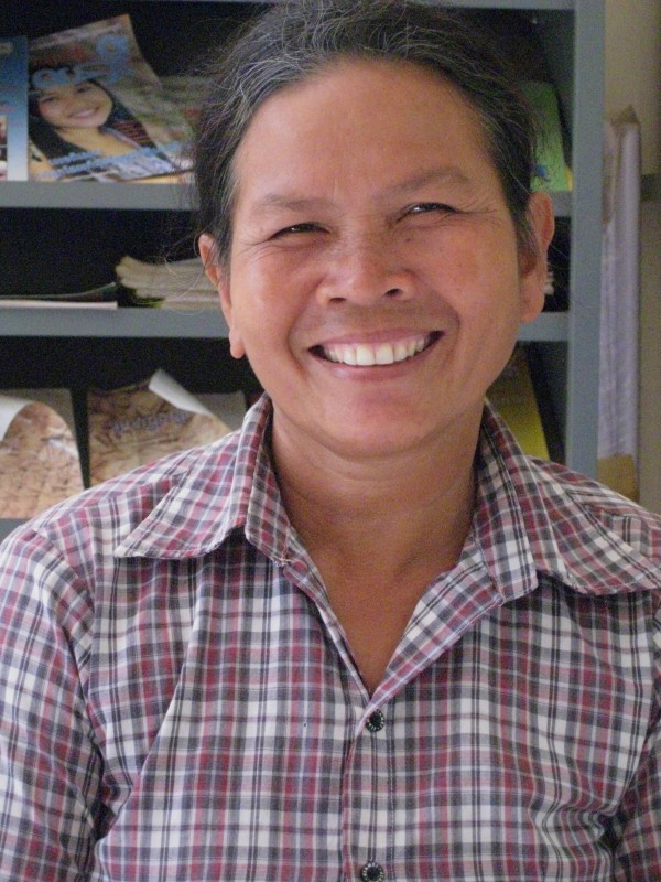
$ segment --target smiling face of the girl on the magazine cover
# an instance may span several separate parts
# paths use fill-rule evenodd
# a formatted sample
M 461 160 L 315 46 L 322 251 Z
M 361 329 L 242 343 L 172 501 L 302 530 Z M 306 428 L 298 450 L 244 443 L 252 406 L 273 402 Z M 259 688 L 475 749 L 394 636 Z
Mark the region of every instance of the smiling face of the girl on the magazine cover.
M 40 90 L 39 110 L 55 129 L 96 129 L 112 110 L 112 99 L 96 83 L 50 86 Z

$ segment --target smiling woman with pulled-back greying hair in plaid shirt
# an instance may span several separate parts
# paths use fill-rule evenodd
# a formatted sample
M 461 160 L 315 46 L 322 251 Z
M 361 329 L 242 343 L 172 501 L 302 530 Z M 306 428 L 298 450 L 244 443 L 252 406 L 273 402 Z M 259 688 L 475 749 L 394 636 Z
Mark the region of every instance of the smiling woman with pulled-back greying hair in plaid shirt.
M 0 551 L 0 878 L 661 878 L 661 518 L 485 401 L 553 232 L 488 41 L 277 3 L 199 126 L 266 394 Z

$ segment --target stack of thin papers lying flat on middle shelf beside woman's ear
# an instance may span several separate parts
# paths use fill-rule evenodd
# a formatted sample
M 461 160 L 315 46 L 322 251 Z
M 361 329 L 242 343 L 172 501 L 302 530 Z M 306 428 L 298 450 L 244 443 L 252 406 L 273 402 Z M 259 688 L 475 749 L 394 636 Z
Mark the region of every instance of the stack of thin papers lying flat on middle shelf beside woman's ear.
M 207 279 L 198 257 L 156 262 L 124 256 L 115 271 L 134 305 L 218 309 L 218 292 Z

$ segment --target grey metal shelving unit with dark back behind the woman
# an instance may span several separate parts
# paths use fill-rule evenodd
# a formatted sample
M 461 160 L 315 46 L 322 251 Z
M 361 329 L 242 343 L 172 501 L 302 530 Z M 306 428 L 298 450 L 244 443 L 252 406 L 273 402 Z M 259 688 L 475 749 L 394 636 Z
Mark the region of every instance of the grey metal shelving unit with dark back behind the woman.
M 425 0 L 434 2 L 434 0 Z M 260 3 L 259 6 L 264 6 Z M 488 17 L 516 11 L 544 47 L 571 138 L 574 189 L 555 194 L 571 225 L 570 309 L 524 327 L 543 365 L 572 467 L 595 474 L 598 426 L 603 120 L 603 0 L 456 0 Z M 187 68 L 256 9 L 239 0 L 6 0 L 0 35 L 35 36 L 128 12 L 159 74 Z M 185 238 L 186 186 L 4 182 L 0 184 L 0 286 L 71 290 L 111 278 L 124 254 L 152 257 Z M 170 310 L 0 310 L 0 388 L 113 385 L 171 370 L 192 391 L 230 391 L 254 380 L 232 363 L 220 313 Z M 13 526 L 0 520 L 0 536 Z

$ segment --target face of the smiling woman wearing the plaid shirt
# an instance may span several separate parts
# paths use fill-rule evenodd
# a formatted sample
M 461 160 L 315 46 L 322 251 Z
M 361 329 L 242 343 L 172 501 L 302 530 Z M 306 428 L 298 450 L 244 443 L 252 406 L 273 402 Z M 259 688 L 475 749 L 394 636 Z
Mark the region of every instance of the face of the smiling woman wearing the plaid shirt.
M 261 106 L 236 178 L 212 276 L 274 441 L 353 458 L 469 443 L 542 306 L 553 218 L 535 195 L 540 255 L 522 255 L 460 94 L 412 65 L 343 62 Z

